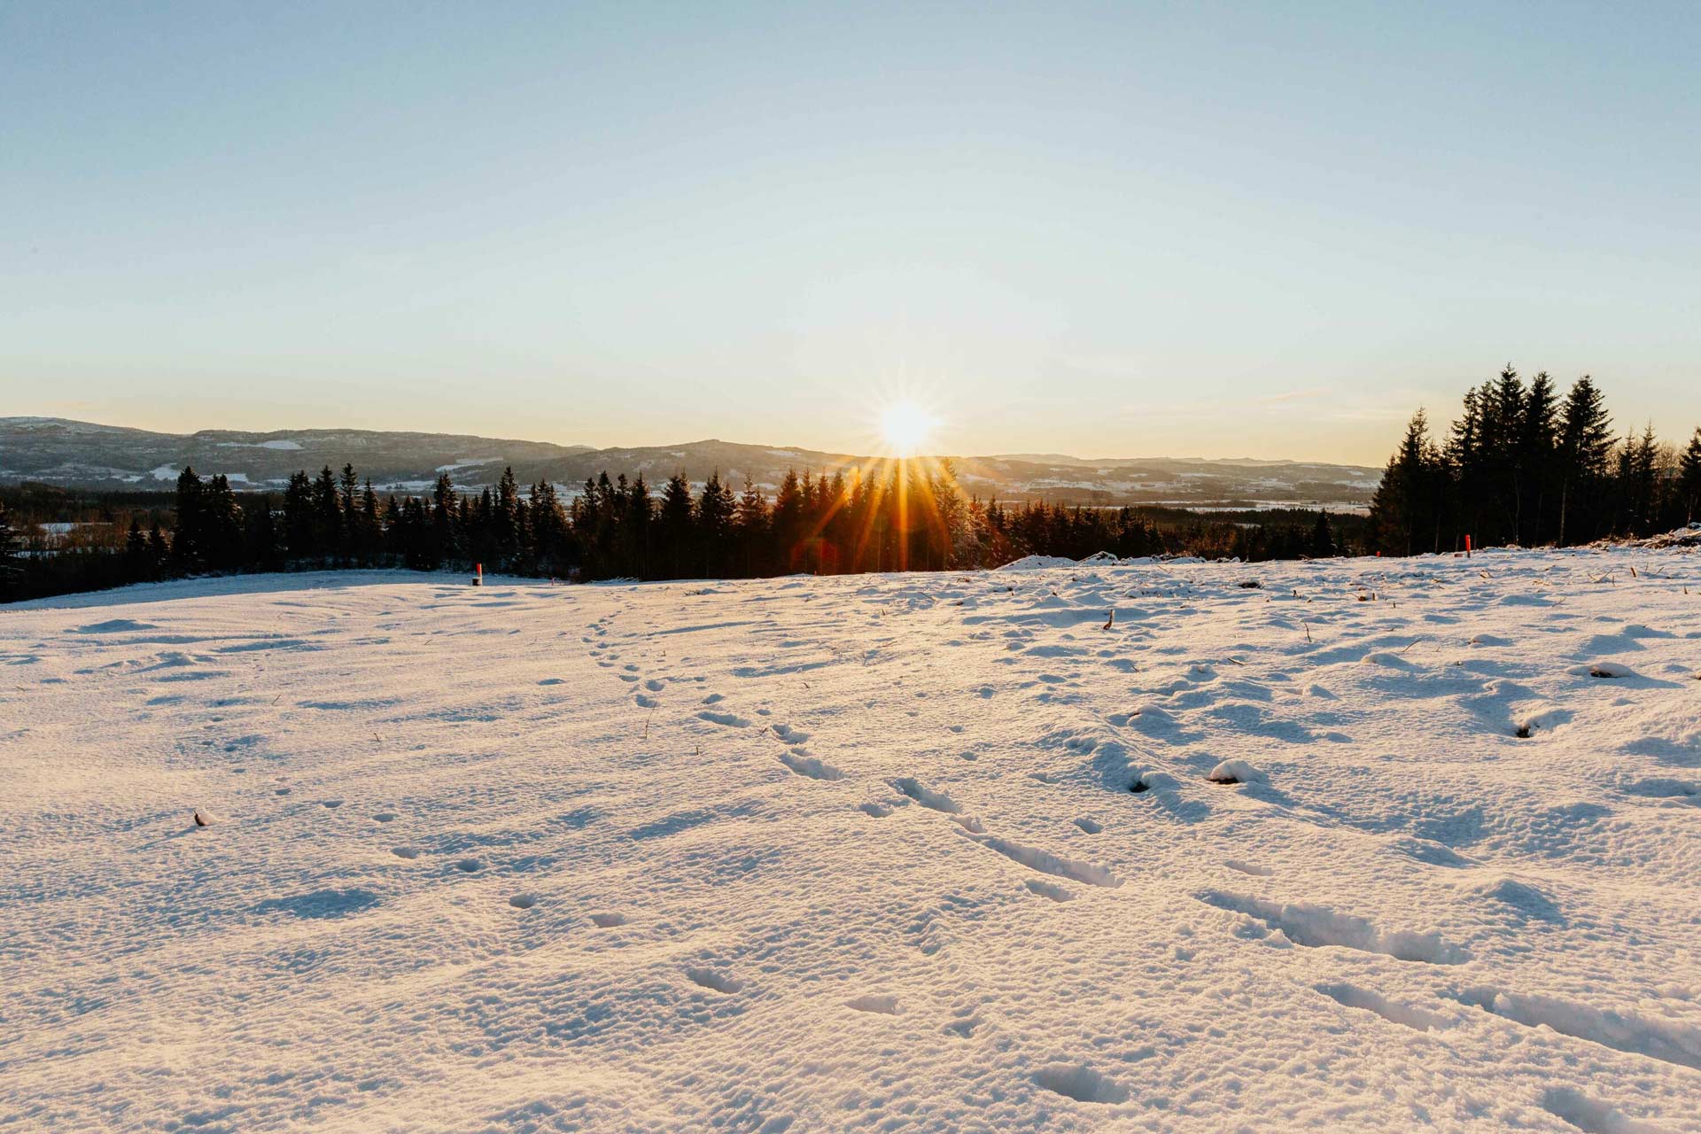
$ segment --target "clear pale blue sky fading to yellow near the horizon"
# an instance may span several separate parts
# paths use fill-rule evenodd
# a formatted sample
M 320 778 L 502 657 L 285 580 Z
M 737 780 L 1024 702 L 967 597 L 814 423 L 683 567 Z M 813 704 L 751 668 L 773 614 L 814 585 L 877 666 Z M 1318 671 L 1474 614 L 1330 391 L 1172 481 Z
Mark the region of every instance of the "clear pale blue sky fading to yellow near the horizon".
M 1380 464 L 1701 422 L 1701 5 L 0 0 L 0 415 Z

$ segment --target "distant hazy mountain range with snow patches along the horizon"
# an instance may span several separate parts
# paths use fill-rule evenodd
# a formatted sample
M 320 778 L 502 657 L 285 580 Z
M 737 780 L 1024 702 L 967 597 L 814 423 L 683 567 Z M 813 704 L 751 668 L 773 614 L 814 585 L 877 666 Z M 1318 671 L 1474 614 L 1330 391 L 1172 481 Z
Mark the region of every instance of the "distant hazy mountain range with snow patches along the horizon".
M 223 473 L 238 490 L 277 490 L 296 469 L 352 462 L 381 490 L 422 491 L 437 473 L 461 488 L 493 485 L 505 466 L 522 485 L 556 481 L 568 490 L 587 476 L 626 473 L 660 486 L 674 473 L 701 483 L 720 471 L 735 488 L 754 481 L 777 486 L 786 469 L 828 473 L 871 457 L 815 449 L 694 440 L 641 449 L 592 449 L 541 440 L 459 434 L 403 434 L 306 428 L 248 434 L 201 430 L 153 434 L 65 418 L 0 418 L 0 483 L 37 481 L 75 488 L 158 490 L 177 474 Z M 1206 461 L 1192 457 L 1085 459 L 1060 454 L 953 457 L 964 490 L 1000 500 L 1046 498 L 1072 503 L 1363 505 L 1380 469 L 1296 461 Z

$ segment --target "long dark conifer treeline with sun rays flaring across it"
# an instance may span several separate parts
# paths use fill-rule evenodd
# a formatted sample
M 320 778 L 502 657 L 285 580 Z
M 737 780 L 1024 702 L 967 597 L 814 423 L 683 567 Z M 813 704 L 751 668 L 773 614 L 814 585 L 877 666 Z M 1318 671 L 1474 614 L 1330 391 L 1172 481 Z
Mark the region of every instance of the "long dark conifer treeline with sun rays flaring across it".
M 41 491 L 49 500 L 37 500 Z M 22 498 L 48 519 L 54 493 L 63 490 L 24 490 Z M 1026 554 L 1080 559 L 1099 551 L 1269 559 L 1340 549 L 1323 513 L 1286 512 L 1252 524 L 1163 508 L 1002 505 L 966 498 L 951 464 L 930 461 L 866 474 L 788 473 L 772 496 L 750 485 L 735 493 L 718 474 L 696 491 L 675 474 L 658 493 L 641 474 L 633 481 L 602 474 L 568 502 L 551 483 L 522 491 L 512 469 L 480 493 L 463 493 L 441 474 L 429 495 L 379 495 L 347 464 L 340 474 L 296 473 L 281 495 L 236 493 L 225 476 L 184 469 L 172 500 L 175 525 L 167 527 L 156 503 L 139 510 L 116 500 L 104 498 L 95 510 L 102 519 L 80 529 L 102 542 L 12 559 L 0 573 L 0 598 L 311 568 L 480 563 L 492 573 L 657 580 L 968 570 Z

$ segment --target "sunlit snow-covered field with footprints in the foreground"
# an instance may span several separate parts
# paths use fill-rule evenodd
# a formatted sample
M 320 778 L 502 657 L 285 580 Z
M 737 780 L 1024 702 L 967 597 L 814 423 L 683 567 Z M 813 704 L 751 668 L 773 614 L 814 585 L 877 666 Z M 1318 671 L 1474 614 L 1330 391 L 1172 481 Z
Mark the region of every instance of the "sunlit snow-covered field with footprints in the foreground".
M 253 576 L 0 666 L 0 1131 L 1701 1131 L 1694 553 Z

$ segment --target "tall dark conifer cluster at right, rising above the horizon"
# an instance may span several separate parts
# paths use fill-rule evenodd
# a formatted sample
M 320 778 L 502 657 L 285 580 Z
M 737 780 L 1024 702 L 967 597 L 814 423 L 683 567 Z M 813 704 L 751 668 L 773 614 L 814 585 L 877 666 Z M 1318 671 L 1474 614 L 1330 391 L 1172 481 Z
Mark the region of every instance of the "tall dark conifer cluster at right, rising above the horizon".
M 1371 503 L 1371 541 L 1390 554 L 1476 546 L 1584 544 L 1701 519 L 1701 428 L 1677 451 L 1648 425 L 1619 439 L 1589 376 L 1560 396 L 1507 366 L 1465 391 L 1442 442 L 1419 410 Z

